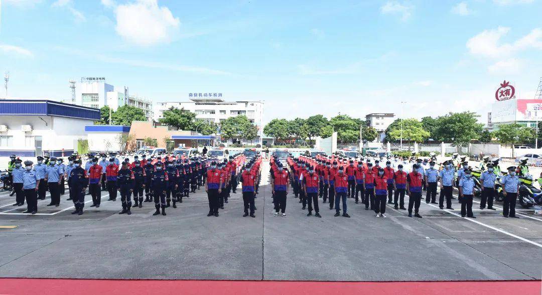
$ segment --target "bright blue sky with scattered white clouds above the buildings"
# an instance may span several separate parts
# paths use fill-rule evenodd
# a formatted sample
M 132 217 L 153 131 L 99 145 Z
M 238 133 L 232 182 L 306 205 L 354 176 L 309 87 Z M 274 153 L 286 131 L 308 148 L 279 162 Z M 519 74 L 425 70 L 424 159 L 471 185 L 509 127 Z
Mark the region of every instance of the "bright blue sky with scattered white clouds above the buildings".
M 221 92 L 264 121 L 491 110 L 502 80 L 533 98 L 542 1 L 0 0 L 9 96 L 69 98 L 105 76 L 154 101 Z M 2 94 L 3 96 L 3 94 Z

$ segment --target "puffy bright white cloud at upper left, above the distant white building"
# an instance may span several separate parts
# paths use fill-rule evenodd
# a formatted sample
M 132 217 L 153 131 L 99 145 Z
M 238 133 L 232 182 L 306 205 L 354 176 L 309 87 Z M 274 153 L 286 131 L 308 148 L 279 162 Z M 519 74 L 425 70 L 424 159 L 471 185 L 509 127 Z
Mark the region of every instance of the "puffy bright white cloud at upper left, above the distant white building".
M 179 18 L 158 6 L 157 0 L 137 0 L 118 5 L 117 34 L 126 41 L 140 46 L 169 43 L 179 33 Z

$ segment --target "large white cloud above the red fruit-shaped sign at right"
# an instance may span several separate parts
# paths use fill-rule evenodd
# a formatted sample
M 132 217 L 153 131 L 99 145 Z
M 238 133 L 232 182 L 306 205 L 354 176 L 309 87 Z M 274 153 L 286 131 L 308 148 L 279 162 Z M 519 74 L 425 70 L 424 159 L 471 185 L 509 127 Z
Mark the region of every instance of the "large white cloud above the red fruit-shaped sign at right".
M 536 28 L 514 43 L 500 44 L 510 28 L 499 27 L 496 30 L 485 30 L 467 41 L 467 48 L 473 55 L 502 58 L 530 48 L 542 49 L 542 29 Z

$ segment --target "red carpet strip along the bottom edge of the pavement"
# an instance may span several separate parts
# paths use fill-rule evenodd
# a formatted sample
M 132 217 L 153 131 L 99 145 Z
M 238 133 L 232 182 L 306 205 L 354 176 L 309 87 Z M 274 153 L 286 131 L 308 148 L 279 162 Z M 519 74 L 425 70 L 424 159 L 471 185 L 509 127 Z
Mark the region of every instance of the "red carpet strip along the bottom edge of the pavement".
M 518 294 L 540 295 L 540 281 L 318 282 L 0 279 L 0 294 Z

